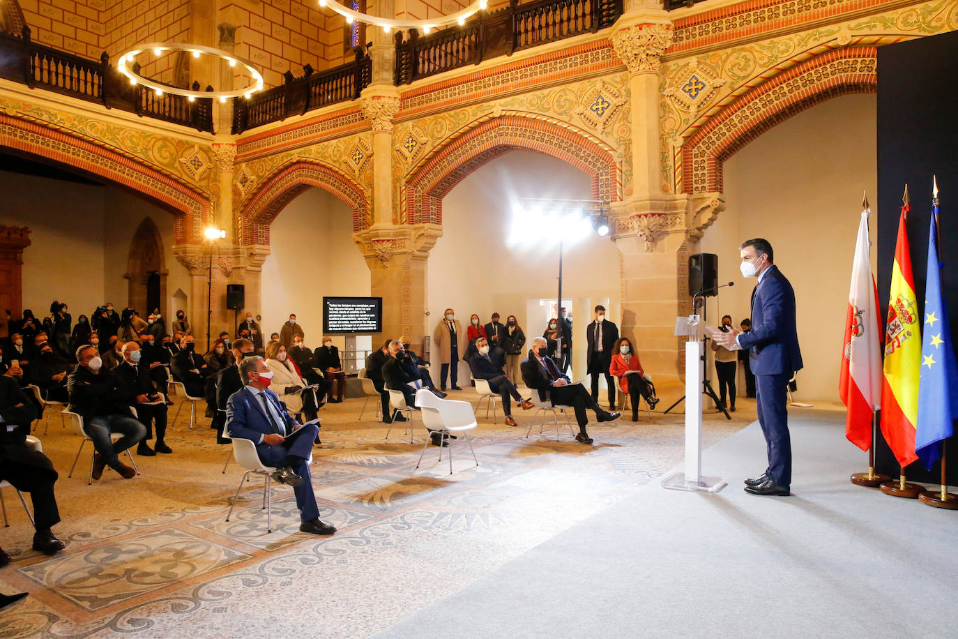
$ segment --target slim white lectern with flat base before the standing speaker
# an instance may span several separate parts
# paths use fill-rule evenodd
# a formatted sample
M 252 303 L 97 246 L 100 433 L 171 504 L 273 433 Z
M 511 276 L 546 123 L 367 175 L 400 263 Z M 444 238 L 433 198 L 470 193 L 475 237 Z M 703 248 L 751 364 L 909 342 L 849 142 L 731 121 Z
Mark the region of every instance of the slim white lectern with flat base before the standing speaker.
M 698 315 L 679 317 L 675 335 L 688 336 L 685 344 L 685 472 L 662 479 L 662 488 L 673 491 L 718 492 L 727 486 L 720 477 L 702 475 L 702 370 L 703 345 L 698 339 Z

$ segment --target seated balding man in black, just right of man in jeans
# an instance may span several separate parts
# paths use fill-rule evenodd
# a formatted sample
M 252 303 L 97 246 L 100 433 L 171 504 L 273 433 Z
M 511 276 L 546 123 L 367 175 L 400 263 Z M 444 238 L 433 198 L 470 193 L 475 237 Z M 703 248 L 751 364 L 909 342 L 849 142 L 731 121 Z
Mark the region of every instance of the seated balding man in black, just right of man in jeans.
M 136 420 L 147 428 L 147 436 L 136 446 L 136 454 L 153 457 L 158 452 L 171 453 L 164 438 L 167 435 L 167 405 L 159 393 L 153 389 L 149 377 L 149 365 L 143 360 L 143 351 L 136 342 L 126 342 L 123 346 L 123 362 L 113 369 L 113 375 L 123 388 L 125 401 L 136 408 Z M 153 439 L 153 425 L 156 426 L 155 449 L 150 448 L 148 440 Z

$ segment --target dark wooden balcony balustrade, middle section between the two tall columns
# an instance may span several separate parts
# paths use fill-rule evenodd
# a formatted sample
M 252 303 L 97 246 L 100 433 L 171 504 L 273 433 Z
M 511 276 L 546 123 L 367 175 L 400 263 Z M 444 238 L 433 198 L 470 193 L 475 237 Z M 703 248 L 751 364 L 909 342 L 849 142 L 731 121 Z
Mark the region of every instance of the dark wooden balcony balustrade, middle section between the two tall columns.
M 289 116 L 302 115 L 329 104 L 348 102 L 359 97 L 369 86 L 373 75 L 372 59 L 356 47 L 355 59 L 326 71 L 315 73 L 308 64 L 303 76 L 293 78 L 286 71 L 281 86 L 260 91 L 233 101 L 233 133 L 242 133 L 256 126 L 280 122 Z

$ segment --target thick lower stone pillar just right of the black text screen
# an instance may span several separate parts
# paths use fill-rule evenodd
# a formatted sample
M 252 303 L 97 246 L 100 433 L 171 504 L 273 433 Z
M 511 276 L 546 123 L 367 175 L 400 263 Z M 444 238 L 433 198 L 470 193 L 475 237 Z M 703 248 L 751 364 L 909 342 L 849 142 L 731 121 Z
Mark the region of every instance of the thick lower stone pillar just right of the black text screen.
M 382 298 L 382 332 L 373 335 L 374 347 L 406 334 L 422 353 L 426 259 L 442 234 L 438 224 L 381 226 L 354 234 L 369 266 L 371 293 Z

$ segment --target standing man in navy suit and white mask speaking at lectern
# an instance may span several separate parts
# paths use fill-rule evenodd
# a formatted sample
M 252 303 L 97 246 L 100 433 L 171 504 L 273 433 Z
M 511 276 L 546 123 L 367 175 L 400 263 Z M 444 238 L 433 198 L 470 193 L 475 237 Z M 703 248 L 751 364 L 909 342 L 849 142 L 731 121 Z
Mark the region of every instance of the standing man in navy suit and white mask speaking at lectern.
M 768 240 L 746 240 L 740 248 L 741 274 L 757 277 L 752 291 L 752 331 L 720 332 L 712 338 L 730 350 L 748 349 L 755 375 L 759 423 L 768 448 L 768 468 L 745 480 L 752 494 L 787 495 L 791 486 L 791 440 L 788 437 L 787 384 L 802 368 L 795 328 L 795 291 L 772 261 Z

